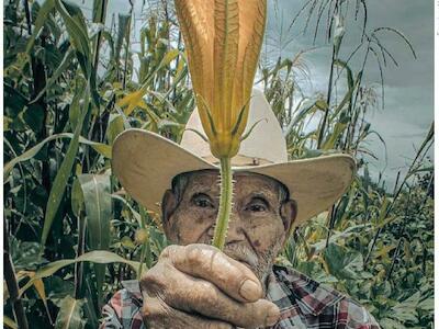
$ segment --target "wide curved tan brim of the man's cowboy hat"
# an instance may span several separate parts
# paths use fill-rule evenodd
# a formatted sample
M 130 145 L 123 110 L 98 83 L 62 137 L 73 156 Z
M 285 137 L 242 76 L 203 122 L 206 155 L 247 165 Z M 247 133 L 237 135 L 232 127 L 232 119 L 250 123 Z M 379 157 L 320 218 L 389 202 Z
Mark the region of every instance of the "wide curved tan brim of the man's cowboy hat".
M 113 173 L 124 189 L 149 211 L 158 212 L 172 179 L 182 172 L 218 170 L 180 145 L 158 134 L 128 129 L 114 141 Z M 283 163 L 235 167 L 282 182 L 297 203 L 294 227 L 327 211 L 353 179 L 356 162 L 349 155 L 329 155 Z

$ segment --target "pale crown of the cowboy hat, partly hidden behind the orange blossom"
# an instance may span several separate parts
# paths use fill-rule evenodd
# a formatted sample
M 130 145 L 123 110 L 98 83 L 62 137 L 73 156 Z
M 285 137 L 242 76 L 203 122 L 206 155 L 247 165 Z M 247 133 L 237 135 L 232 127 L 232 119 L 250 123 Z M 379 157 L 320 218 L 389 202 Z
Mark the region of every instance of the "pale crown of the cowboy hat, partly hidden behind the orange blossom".
M 244 135 L 258 121 L 260 122 L 250 135 L 240 144 L 238 154 L 232 158 L 232 166 L 258 166 L 288 161 L 286 141 L 278 118 L 263 92 L 254 89 Z M 192 112 L 185 128 L 180 146 L 211 163 L 217 163 L 218 159 L 212 155 L 209 143 L 196 133 L 188 131 L 194 129 L 205 136 L 198 110 Z

